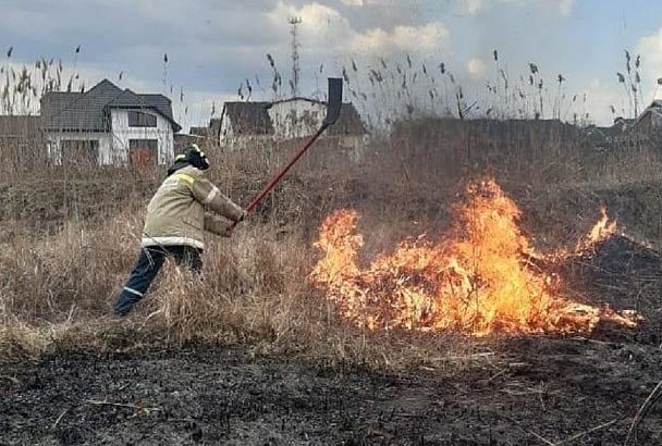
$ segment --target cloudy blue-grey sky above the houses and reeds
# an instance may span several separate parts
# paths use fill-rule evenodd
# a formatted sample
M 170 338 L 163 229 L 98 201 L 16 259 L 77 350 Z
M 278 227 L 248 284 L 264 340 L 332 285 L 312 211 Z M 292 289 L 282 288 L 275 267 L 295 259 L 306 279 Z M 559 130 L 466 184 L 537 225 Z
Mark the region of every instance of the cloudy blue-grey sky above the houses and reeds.
M 443 62 L 463 85 L 467 103 L 481 101 L 499 69 L 513 86 L 524 86 L 519 76 L 528 78 L 532 62 L 548 94 L 569 101 L 586 92 L 586 104 L 573 110 L 586 111 L 601 124 L 613 117 L 610 106 L 617 114 L 629 112 L 616 77 L 625 70 L 624 49 L 641 53 L 643 101 L 652 99 L 654 79 L 662 75 L 662 1 L 2 0 L 2 7 L 0 48 L 4 54 L 13 48 L 3 63 L 34 66 L 37 58 L 62 59 L 66 70 L 75 63 L 78 82 L 86 86 L 108 77 L 137 92 L 166 92 L 175 119 L 186 127 L 208 121 L 212 104 L 218 115 L 223 100 L 237 99 L 242 83 L 247 94 L 245 79 L 253 99 L 271 99 L 267 53 L 275 59 L 283 91 L 289 91 L 290 16 L 303 21 L 302 95 L 323 89 L 323 78 L 340 75 L 345 66 L 351 77 L 364 77 L 354 88 L 367 98 L 346 99 L 365 102 L 368 111 L 395 101 L 396 92 L 370 90 L 366 82 L 364 74 L 381 66 L 380 57 L 393 71 L 409 54 L 412 72 L 425 64 L 437 76 Z M 559 74 L 565 78 L 561 92 Z M 409 100 L 427 107 L 422 96 Z M 440 94 L 433 100 L 443 99 Z M 563 117 L 571 119 L 568 112 Z

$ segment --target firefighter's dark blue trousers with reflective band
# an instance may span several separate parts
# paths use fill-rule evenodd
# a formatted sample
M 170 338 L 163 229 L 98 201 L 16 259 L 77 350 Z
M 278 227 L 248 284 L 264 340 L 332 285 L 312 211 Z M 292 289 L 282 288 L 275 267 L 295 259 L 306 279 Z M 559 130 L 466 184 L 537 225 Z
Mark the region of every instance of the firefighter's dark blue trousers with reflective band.
M 143 248 L 126 285 L 118 296 L 115 314 L 126 315 L 138 302 L 147 288 L 157 277 L 166 258 L 174 258 L 177 264 L 185 264 L 191 271 L 199 273 L 203 270 L 203 250 L 191 246 L 170 245 Z

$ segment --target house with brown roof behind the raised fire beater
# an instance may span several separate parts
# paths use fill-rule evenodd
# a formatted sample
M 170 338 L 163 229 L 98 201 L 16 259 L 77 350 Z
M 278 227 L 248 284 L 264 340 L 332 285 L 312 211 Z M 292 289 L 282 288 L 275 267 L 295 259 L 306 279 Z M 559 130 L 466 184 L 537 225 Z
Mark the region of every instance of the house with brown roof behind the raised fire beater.
M 220 120 L 210 123 L 210 131 L 218 135 L 222 146 L 243 148 L 260 140 L 310 136 L 320 127 L 326 114 L 326 102 L 298 97 L 274 102 L 225 102 Z M 340 119 L 323 138 L 336 139 L 341 148 L 359 150 L 367 136 L 356 108 L 343 103 Z

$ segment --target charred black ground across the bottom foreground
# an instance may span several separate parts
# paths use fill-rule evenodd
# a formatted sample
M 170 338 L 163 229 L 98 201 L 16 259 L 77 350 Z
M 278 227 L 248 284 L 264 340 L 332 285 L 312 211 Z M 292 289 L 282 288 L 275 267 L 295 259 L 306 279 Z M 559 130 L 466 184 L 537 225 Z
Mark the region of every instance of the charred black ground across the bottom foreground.
M 399 375 L 220 347 L 23 361 L 0 373 L 0 444 L 616 445 L 662 380 L 652 345 L 491 345 L 490 368 L 429 363 Z M 638 441 L 662 444 L 662 407 Z

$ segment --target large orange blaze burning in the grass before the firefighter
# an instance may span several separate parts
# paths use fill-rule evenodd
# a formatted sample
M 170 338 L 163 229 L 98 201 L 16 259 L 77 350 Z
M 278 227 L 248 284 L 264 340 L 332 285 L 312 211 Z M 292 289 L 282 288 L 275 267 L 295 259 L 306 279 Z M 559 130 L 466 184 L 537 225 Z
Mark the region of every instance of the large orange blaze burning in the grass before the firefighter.
M 603 310 L 557 296 L 557 280 L 530 268 L 532 248 L 517 226 L 520 211 L 499 185 L 474 183 L 468 194 L 450 236 L 405 240 L 366 269 L 357 261 L 357 213 L 334 212 L 315 244 L 323 257 L 311 282 L 343 315 L 370 330 L 483 336 L 594 327 Z

